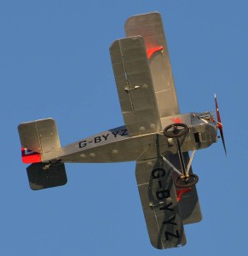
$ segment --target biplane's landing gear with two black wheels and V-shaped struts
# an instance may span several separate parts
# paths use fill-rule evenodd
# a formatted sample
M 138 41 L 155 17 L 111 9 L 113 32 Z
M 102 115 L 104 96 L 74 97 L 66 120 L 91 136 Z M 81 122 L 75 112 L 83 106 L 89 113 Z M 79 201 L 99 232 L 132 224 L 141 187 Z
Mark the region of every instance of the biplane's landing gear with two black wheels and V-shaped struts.
M 190 156 L 189 162 L 187 164 L 187 167 L 184 163 L 184 158 L 182 154 L 182 148 L 179 141 L 179 138 L 186 135 L 189 131 L 189 128 L 186 124 L 183 123 L 176 123 L 168 125 L 164 128 L 164 136 L 170 137 L 170 138 L 176 138 L 176 145 L 177 145 L 177 152 L 180 160 L 180 164 L 182 167 L 182 172 L 178 171 L 175 166 L 173 166 L 169 160 L 166 160 L 163 156 L 163 160 L 165 160 L 172 169 L 177 172 L 178 176 L 176 177 L 175 185 L 179 188 L 190 188 L 193 187 L 196 183 L 199 181 L 199 177 L 196 174 L 190 174 L 189 169 L 193 160 L 193 155 L 195 153 L 195 150 Z

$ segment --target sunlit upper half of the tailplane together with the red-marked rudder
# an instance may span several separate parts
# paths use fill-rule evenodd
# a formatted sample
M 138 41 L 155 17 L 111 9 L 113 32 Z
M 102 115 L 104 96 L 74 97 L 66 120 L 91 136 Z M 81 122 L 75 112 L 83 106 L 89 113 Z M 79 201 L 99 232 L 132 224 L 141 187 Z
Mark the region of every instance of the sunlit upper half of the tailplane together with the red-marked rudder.
M 42 155 L 61 148 L 54 119 L 40 119 L 18 126 L 21 157 L 26 164 L 42 161 Z M 56 155 L 55 155 L 56 157 Z

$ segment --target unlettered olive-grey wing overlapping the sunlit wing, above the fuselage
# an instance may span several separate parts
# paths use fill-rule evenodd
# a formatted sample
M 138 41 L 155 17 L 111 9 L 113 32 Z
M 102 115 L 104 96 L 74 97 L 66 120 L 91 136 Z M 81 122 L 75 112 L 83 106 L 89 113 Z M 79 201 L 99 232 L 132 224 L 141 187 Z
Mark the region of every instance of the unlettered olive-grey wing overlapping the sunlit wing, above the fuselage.
M 110 55 L 119 102 L 130 136 L 161 131 L 143 38 L 138 36 L 113 42 Z

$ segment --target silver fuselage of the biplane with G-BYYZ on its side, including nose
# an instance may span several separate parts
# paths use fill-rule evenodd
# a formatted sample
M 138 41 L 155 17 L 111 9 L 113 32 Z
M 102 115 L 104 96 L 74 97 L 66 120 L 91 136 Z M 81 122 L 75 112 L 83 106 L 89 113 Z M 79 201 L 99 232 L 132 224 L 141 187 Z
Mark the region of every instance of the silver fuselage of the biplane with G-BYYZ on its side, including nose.
M 180 138 L 182 152 L 207 148 L 216 142 L 216 122 L 201 119 L 200 113 L 161 119 L 163 129 L 171 123 L 184 123 L 189 127 L 188 133 Z M 60 148 L 54 160 L 65 163 L 135 161 L 155 158 L 158 152 L 161 155 L 176 154 L 176 138 L 164 137 L 163 131 L 130 137 L 126 126 L 120 126 Z M 43 154 L 42 160 L 51 160 L 51 155 L 55 152 Z

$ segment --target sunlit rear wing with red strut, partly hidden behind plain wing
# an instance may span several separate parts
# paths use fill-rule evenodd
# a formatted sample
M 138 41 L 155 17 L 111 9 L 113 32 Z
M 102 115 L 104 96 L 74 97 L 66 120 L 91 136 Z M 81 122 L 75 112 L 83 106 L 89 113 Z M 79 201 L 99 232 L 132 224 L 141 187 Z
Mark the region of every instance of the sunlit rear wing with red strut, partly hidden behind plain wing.
M 160 118 L 178 114 L 176 89 L 161 15 L 155 12 L 132 16 L 126 20 L 125 32 L 127 37 L 140 35 L 145 40 Z

